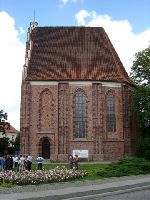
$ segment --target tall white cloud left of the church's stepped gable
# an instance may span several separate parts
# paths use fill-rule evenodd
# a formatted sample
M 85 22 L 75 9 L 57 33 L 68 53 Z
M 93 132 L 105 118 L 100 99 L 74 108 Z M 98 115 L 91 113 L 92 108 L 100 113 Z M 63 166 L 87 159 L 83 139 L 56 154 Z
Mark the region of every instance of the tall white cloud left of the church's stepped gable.
M 22 28 L 16 30 L 14 19 L 0 12 L 0 109 L 8 113 L 8 121 L 19 129 L 22 68 L 25 44 L 19 40 Z

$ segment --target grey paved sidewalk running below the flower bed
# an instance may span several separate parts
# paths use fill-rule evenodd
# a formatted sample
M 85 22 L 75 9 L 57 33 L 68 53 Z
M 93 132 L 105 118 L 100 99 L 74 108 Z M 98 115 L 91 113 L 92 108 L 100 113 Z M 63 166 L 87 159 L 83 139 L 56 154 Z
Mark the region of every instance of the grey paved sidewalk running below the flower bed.
M 84 196 L 106 194 L 134 188 L 150 188 L 150 175 L 110 178 L 96 181 L 76 181 L 67 183 L 16 186 L 0 188 L 0 200 L 17 199 L 84 199 Z M 80 198 L 82 197 L 82 198 Z M 92 197 L 91 197 L 92 199 Z

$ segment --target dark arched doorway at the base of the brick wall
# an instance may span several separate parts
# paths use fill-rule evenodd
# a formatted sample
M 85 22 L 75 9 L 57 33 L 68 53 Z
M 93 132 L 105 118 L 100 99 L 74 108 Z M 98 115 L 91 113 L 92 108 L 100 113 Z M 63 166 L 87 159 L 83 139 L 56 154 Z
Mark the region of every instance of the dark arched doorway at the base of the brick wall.
M 42 141 L 42 156 L 45 159 L 50 158 L 50 141 L 48 138 L 44 138 Z

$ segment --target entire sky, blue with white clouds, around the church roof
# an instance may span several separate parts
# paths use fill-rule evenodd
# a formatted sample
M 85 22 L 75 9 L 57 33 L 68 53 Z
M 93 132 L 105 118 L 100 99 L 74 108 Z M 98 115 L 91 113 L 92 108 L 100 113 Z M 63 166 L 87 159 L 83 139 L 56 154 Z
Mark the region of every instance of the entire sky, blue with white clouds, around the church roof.
M 30 22 L 103 27 L 126 71 L 150 46 L 150 0 L 0 0 L 0 109 L 20 129 L 22 69 Z

